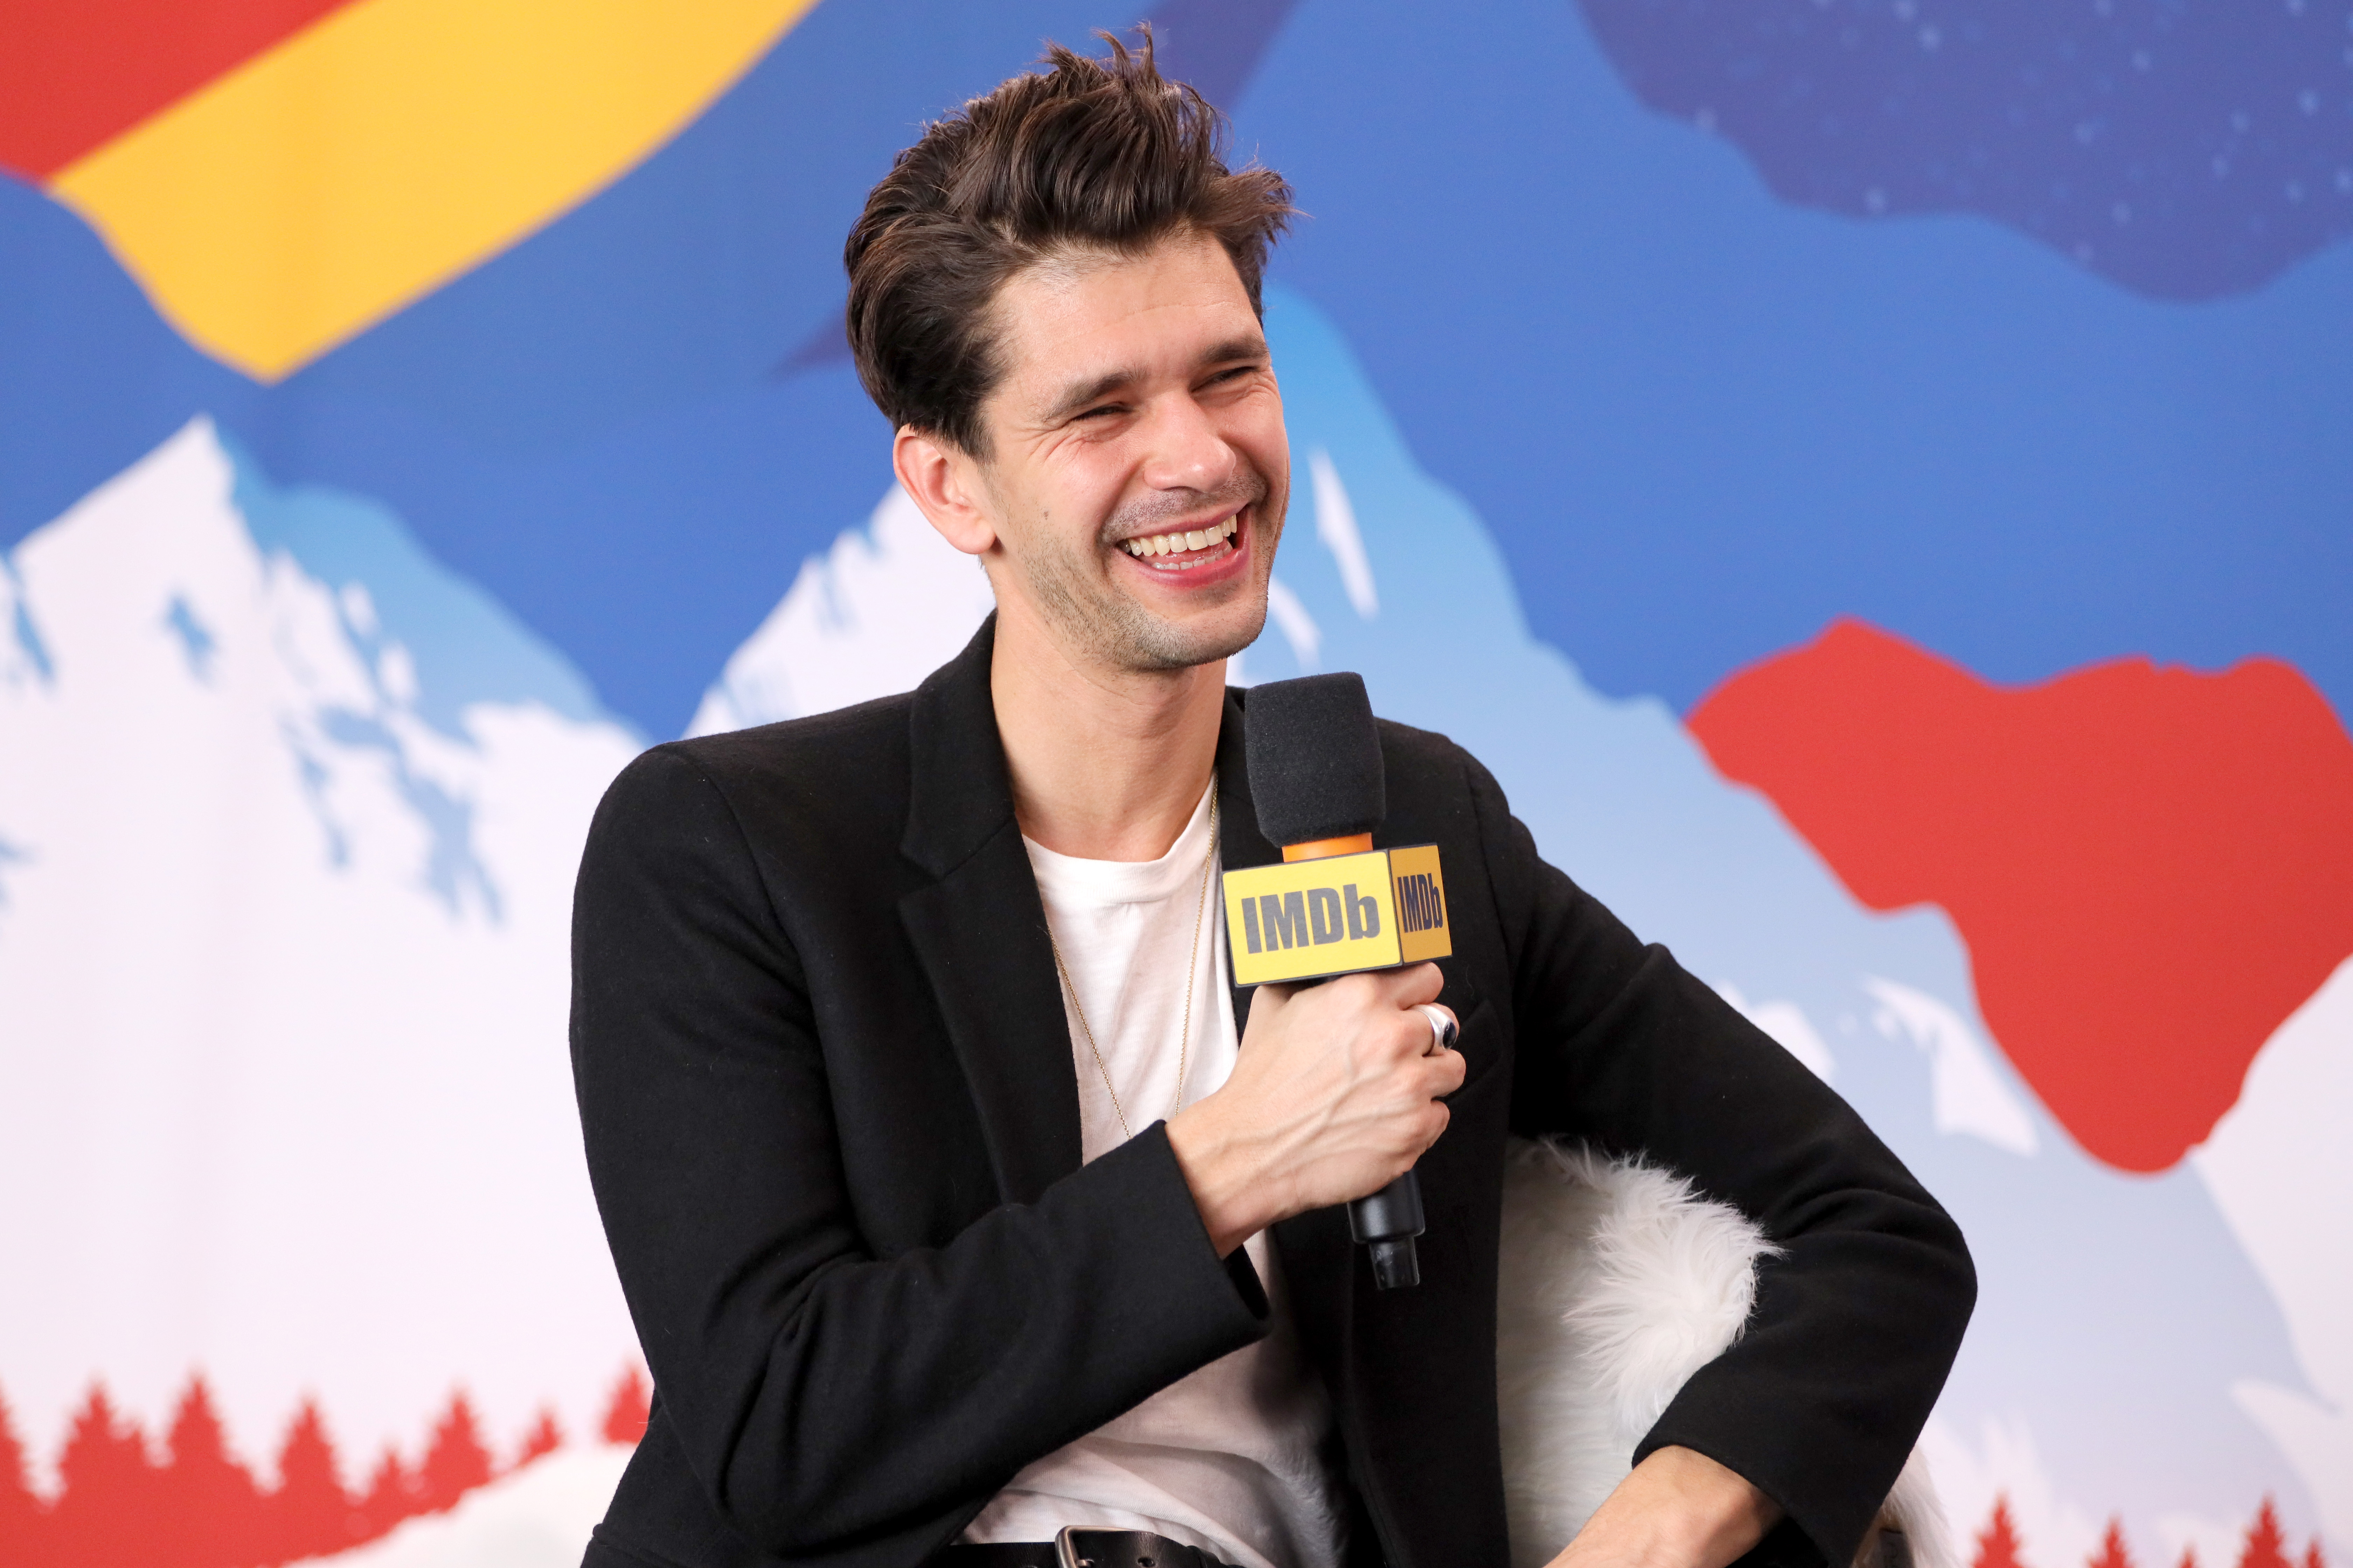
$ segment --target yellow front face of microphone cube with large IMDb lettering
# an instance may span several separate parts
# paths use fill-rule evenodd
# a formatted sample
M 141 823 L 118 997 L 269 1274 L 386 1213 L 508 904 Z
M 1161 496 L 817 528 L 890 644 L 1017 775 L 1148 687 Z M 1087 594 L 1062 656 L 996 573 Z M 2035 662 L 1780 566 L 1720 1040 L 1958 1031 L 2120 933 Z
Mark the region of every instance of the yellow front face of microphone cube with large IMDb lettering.
M 1405 961 L 1391 853 L 1374 849 L 1226 872 L 1221 893 L 1233 983 L 1308 980 Z

